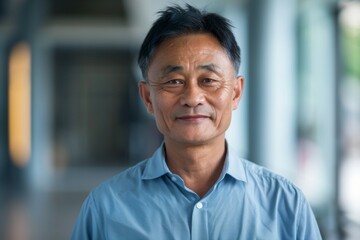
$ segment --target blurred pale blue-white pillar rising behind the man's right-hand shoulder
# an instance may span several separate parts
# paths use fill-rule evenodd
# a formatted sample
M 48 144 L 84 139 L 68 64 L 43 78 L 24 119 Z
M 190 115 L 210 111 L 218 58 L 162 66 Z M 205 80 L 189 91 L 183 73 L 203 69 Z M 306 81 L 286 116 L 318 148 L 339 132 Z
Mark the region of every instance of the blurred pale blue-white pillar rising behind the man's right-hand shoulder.
M 250 2 L 250 160 L 291 178 L 296 162 L 296 1 Z

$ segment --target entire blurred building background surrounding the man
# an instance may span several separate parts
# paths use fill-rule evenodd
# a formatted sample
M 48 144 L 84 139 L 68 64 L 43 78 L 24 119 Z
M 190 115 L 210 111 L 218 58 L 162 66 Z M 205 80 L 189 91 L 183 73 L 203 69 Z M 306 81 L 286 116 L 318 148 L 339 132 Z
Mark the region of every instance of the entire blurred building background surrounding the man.
M 360 239 L 360 1 L 0 0 L 0 239 L 69 239 L 97 184 L 162 141 L 139 46 L 169 3 L 229 18 L 238 154 L 292 180 L 324 239 Z

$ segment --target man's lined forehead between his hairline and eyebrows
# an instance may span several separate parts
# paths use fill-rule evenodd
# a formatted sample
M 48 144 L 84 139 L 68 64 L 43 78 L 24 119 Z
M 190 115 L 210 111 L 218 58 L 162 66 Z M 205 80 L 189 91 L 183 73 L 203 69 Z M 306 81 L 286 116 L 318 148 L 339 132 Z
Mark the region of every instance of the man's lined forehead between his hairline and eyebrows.
M 211 34 L 188 34 L 171 38 L 159 45 L 149 66 L 149 74 L 168 65 L 185 69 L 212 64 L 221 69 L 233 69 L 225 49 Z

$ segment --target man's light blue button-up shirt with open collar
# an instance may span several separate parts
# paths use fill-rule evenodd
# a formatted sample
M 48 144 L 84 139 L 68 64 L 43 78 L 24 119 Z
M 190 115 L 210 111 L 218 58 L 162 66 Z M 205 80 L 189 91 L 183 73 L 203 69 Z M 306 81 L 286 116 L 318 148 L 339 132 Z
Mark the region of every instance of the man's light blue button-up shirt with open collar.
M 303 193 L 229 149 L 222 174 L 200 198 L 172 174 L 163 147 L 98 186 L 71 239 L 321 239 Z

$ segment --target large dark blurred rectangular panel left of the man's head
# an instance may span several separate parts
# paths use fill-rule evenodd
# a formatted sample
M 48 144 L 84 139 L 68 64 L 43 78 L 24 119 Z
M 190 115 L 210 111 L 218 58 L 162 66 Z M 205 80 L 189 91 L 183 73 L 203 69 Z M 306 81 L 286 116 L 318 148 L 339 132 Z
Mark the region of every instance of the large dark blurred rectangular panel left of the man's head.
M 132 55 L 58 48 L 54 58 L 55 165 L 126 166 L 147 157 L 151 144 L 133 148 L 141 139 L 160 139 L 142 117 Z

